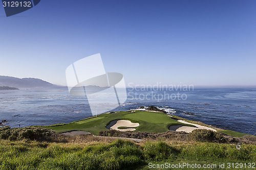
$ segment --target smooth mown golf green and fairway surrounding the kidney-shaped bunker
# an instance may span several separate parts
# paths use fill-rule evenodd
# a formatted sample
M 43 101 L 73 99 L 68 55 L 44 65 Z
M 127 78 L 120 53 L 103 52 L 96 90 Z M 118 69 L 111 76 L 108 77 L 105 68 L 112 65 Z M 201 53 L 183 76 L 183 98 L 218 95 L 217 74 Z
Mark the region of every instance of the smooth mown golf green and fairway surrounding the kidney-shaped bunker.
M 44 128 L 52 129 L 56 133 L 70 131 L 70 130 L 81 130 L 90 132 L 94 135 L 98 135 L 100 131 L 108 130 L 106 126 L 110 124 L 112 120 L 124 119 L 130 120 L 132 123 L 139 123 L 140 126 L 135 127 L 136 131 L 141 132 L 166 132 L 170 126 L 182 125 L 192 126 L 188 124 L 182 124 L 172 119 L 165 113 L 161 112 L 117 112 L 117 113 L 106 113 L 98 115 L 97 117 L 89 117 L 87 119 L 80 120 L 78 122 L 72 122 L 69 124 L 45 126 Z

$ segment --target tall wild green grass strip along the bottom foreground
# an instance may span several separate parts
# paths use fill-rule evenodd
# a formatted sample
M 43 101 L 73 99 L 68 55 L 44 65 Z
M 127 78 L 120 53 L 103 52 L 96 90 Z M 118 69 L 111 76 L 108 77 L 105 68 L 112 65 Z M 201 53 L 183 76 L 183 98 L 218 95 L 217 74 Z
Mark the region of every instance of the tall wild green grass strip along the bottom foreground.
M 0 169 L 148 169 L 148 163 L 255 162 L 256 145 L 117 140 L 111 143 L 41 143 L 0 140 Z M 159 168 L 158 168 L 159 169 Z M 186 169 L 186 168 L 184 168 Z M 189 168 L 188 168 L 189 169 Z M 246 169 L 246 168 L 239 168 Z

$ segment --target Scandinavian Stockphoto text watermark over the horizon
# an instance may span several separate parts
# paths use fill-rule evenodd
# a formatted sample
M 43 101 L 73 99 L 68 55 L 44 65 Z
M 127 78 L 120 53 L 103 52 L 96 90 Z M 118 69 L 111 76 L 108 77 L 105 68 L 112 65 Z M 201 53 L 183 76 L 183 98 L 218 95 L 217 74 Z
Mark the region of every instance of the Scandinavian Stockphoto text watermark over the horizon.
M 166 85 L 161 82 L 157 82 L 154 85 L 129 83 L 127 87 L 127 94 L 133 100 L 154 100 L 157 102 L 163 100 L 186 100 L 187 92 L 194 91 L 194 85 L 182 83 L 178 85 Z

